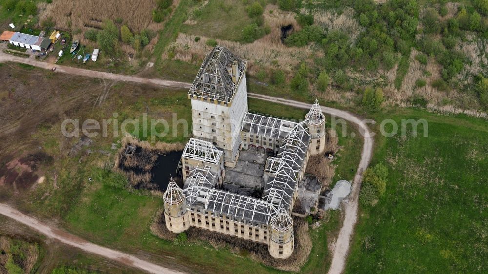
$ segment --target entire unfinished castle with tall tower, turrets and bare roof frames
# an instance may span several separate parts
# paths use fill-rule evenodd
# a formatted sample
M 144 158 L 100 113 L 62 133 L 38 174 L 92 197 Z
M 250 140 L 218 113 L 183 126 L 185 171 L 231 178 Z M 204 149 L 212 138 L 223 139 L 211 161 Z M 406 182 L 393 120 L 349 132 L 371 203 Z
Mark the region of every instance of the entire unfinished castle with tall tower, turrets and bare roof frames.
M 317 101 L 301 123 L 249 113 L 246 65 L 222 46 L 203 61 L 188 92 L 194 137 L 183 150 L 183 188 L 171 181 L 163 196 L 166 227 L 262 243 L 285 259 L 309 156 L 325 148 L 325 117 Z

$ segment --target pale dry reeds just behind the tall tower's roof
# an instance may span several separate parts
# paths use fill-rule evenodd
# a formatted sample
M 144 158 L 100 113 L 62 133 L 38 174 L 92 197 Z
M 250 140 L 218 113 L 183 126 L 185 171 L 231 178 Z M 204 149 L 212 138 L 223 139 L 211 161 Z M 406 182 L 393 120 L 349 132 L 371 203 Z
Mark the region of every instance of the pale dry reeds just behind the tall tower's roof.
M 273 10 L 270 14 L 269 10 Z M 310 48 L 287 47 L 281 42 L 281 26 L 293 25 L 294 29 L 300 29 L 300 25 L 295 20 L 292 13 L 280 11 L 275 5 L 266 6 L 264 11 L 264 20 L 270 26 L 271 32 L 263 38 L 252 43 L 241 44 L 226 40 L 217 42 L 233 51 L 235 54 L 250 61 L 247 72 L 255 74 L 260 69 L 282 69 L 291 72 L 292 69 L 311 53 Z M 206 45 L 209 38 L 201 37 L 199 42 L 195 42 L 195 35 L 180 33 L 176 42 L 170 48 L 173 48 L 176 56 L 175 59 L 200 64 L 205 55 L 212 49 Z M 163 58 L 167 58 L 164 53 Z

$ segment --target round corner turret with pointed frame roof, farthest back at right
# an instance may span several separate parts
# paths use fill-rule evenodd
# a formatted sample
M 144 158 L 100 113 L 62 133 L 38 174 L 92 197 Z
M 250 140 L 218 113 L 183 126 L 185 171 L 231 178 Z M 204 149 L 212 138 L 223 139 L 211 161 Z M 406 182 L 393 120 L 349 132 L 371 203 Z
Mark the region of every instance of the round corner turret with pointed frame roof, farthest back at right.
M 320 108 L 319 101 L 315 100 L 312 108 L 305 116 L 308 132 L 311 135 L 310 155 L 324 153 L 325 149 L 325 116 Z

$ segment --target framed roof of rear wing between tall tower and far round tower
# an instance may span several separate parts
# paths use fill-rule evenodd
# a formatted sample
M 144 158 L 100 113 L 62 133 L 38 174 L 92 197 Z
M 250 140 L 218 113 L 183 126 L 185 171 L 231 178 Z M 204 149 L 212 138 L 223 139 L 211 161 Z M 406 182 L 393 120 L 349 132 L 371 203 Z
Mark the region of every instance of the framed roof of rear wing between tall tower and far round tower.
M 263 137 L 283 139 L 298 123 L 267 117 L 260 114 L 245 113 L 241 131 Z

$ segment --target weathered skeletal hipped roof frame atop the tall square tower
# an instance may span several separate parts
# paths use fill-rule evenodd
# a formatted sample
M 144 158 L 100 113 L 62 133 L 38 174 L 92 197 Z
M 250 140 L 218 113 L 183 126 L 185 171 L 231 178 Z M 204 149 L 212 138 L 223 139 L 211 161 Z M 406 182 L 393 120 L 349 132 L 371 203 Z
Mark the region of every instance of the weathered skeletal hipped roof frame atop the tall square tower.
M 243 61 L 223 46 L 216 46 L 203 60 L 197 77 L 188 95 L 230 103 L 237 88 L 239 77 L 244 75 L 246 61 Z M 237 71 L 233 71 L 233 67 Z M 234 75 L 231 75 L 231 72 Z M 233 81 L 233 77 L 236 81 Z

